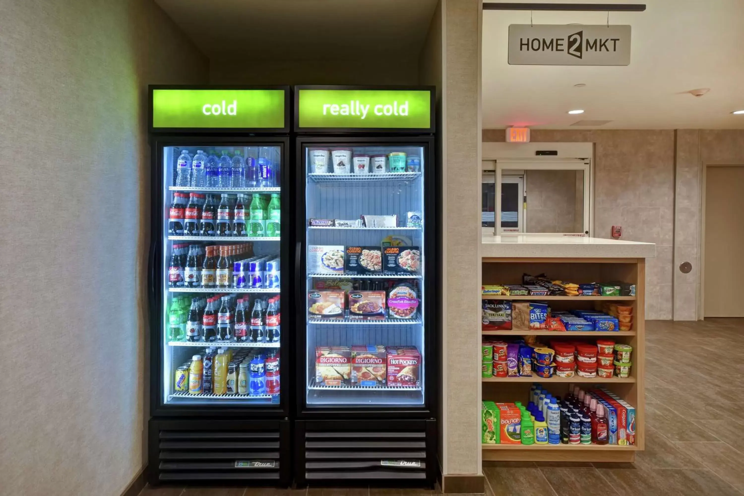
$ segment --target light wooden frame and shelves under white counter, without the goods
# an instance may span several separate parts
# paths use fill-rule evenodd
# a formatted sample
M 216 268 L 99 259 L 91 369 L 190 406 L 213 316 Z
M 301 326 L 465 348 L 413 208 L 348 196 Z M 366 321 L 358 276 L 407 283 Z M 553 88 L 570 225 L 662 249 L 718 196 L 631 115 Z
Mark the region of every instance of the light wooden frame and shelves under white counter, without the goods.
M 483 460 L 503 461 L 574 461 L 574 462 L 632 462 L 635 452 L 644 449 L 644 338 L 645 338 L 645 259 L 644 258 L 498 258 L 484 257 L 482 283 L 520 284 L 522 274 L 547 274 L 559 280 L 576 283 L 621 280 L 635 283 L 635 296 L 580 297 L 580 296 L 483 296 L 484 300 L 548 301 L 553 309 L 591 309 L 597 302 L 623 302 L 633 307 L 633 326 L 630 331 L 545 331 L 514 329 L 482 331 L 484 336 L 504 338 L 535 335 L 549 338 L 613 339 L 616 343 L 633 347 L 632 376 L 626 379 L 585 379 L 579 376 L 564 379 L 533 377 L 490 377 L 481 381 L 482 398 L 496 402 L 525 402 L 530 384 L 539 382 L 551 393 L 563 396 L 568 383 L 589 388 L 593 384 L 606 387 L 635 407 L 635 445 L 481 445 Z

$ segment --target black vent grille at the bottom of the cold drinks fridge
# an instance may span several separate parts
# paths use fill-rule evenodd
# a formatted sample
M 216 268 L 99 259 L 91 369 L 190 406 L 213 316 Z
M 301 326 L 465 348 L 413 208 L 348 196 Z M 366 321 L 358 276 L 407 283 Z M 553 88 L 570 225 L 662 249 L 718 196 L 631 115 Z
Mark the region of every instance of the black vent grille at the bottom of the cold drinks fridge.
M 255 480 L 275 485 L 279 474 L 276 431 L 158 431 L 161 481 Z

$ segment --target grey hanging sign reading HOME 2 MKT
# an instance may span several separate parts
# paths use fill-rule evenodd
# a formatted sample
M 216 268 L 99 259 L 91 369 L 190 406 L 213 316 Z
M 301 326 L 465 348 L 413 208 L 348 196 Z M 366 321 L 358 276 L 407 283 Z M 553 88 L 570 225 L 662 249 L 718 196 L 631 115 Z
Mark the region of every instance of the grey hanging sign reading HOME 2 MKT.
M 510 65 L 629 65 L 629 25 L 509 25 Z

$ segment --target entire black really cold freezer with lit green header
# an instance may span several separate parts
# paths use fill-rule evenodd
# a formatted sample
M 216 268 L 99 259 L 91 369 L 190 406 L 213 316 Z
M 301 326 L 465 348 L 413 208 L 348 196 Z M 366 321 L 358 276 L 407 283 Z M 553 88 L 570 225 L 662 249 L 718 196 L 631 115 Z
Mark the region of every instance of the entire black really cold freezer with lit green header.
M 294 97 L 295 480 L 432 484 L 434 91 Z

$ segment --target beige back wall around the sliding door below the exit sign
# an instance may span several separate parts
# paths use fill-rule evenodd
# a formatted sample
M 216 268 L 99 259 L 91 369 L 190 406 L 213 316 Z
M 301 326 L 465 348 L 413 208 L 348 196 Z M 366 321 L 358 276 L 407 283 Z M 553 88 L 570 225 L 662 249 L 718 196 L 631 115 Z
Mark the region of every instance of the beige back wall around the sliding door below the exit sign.
M 483 141 L 504 141 L 503 129 L 484 129 Z M 530 141 L 594 143 L 594 236 L 623 226 L 629 241 L 656 243 L 646 264 L 646 315 L 672 318 L 674 131 L 542 130 Z

